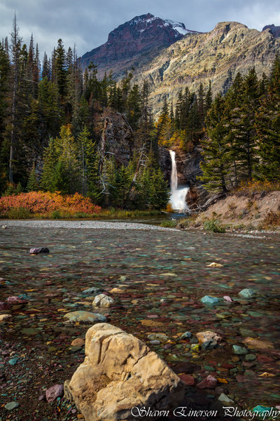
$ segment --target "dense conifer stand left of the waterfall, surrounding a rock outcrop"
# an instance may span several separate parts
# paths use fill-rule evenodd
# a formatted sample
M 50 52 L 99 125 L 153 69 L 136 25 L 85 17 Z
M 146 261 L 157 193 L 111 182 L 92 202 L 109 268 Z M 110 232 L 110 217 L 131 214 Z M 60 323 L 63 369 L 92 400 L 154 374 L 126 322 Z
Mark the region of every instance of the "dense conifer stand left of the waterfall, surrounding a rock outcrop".
M 94 113 L 125 116 L 134 135 L 127 167 L 100 149 Z M 39 171 L 41 169 L 41 171 Z M 148 105 L 148 83 L 117 83 L 80 66 L 76 47 L 62 39 L 40 62 L 31 36 L 22 44 L 16 17 L 0 43 L 0 193 L 80 192 L 102 206 L 164 208 L 168 187 L 158 165 L 158 139 Z

